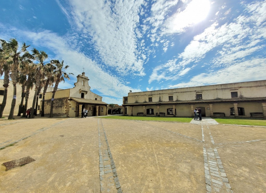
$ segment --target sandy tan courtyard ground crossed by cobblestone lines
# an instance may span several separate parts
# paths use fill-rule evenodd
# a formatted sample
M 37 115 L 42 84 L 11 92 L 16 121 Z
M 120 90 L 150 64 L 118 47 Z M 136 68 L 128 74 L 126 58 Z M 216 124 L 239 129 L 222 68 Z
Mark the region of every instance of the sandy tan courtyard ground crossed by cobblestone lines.
M 19 118 L 0 121 L 0 148 L 1 193 L 266 192 L 265 127 Z

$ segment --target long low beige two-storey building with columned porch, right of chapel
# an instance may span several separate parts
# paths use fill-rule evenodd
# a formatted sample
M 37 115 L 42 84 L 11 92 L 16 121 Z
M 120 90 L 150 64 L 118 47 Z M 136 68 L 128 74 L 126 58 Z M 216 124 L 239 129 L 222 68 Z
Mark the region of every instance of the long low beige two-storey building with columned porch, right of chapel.
M 130 92 L 123 97 L 123 114 L 194 117 L 266 118 L 266 80 L 157 91 Z

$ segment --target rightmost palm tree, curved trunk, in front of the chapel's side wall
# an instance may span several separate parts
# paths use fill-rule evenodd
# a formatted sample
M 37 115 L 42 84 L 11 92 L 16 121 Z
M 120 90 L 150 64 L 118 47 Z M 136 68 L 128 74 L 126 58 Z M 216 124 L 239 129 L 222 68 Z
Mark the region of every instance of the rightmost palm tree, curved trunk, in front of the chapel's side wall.
M 52 100 L 51 100 L 51 109 L 50 109 L 50 117 L 53 117 L 53 101 L 55 98 L 55 92 L 57 90 L 58 84 L 63 81 L 65 82 L 65 78 L 67 78 L 68 80 L 70 80 L 70 77 L 68 75 L 73 74 L 73 73 L 66 73 L 65 70 L 69 67 L 68 65 L 66 65 L 64 67 L 64 61 L 62 60 L 62 62 L 60 63 L 59 60 L 52 60 L 51 61 L 56 69 L 54 71 L 54 75 L 55 75 L 55 87 L 53 88 L 53 95 L 52 95 Z M 63 68 L 64 67 L 64 68 Z

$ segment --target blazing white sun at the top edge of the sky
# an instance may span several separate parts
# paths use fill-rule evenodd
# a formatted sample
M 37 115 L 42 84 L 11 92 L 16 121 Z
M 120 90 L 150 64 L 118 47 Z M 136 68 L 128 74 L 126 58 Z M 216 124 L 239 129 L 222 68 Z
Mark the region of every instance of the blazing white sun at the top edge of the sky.
M 207 17 L 209 10 L 210 2 L 208 0 L 193 0 L 184 10 L 184 14 L 191 23 L 198 23 Z

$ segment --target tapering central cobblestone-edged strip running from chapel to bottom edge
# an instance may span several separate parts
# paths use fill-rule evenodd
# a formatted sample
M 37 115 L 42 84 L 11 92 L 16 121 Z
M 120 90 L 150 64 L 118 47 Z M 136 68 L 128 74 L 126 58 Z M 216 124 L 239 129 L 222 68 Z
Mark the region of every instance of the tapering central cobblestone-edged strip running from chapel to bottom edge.
M 110 151 L 107 136 L 102 124 L 98 119 L 98 136 L 99 136 L 99 170 L 101 192 L 122 193 L 122 188 L 115 168 L 115 163 Z

